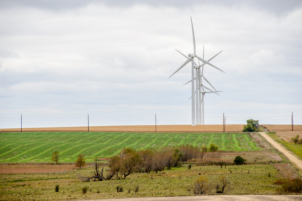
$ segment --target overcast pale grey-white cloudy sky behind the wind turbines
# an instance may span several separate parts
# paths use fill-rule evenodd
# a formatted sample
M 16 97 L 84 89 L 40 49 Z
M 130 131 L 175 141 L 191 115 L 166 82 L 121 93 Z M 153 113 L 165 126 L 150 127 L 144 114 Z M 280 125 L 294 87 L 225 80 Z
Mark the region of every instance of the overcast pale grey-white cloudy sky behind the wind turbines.
M 0 128 L 191 124 L 190 16 L 205 124 L 302 124 L 302 1 L 2 0 Z

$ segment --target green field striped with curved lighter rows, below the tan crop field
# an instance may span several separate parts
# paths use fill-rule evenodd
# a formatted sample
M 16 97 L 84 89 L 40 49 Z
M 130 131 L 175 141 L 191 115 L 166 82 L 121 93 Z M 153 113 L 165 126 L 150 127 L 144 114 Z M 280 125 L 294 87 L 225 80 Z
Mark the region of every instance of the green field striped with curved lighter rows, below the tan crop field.
M 130 132 L 22 132 L 0 134 L 0 162 L 50 162 L 59 151 L 60 162 L 105 158 L 124 147 L 158 149 L 163 146 L 217 144 L 219 150 L 249 151 L 261 147 L 246 133 L 130 133 Z

